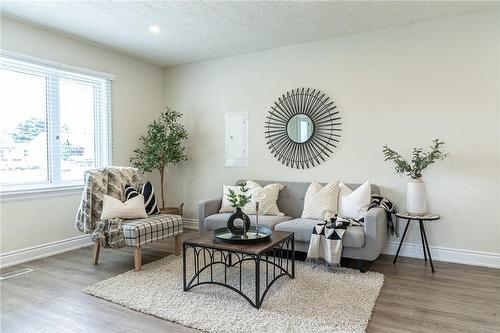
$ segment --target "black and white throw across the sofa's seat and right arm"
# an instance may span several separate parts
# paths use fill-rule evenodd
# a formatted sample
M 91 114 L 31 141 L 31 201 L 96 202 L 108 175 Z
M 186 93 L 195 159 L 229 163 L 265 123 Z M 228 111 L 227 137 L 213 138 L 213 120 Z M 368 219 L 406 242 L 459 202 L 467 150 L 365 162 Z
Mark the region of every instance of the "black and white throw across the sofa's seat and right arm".
M 387 213 L 387 225 L 391 234 L 397 234 L 397 226 L 392 215 L 396 213 L 396 207 L 389 200 L 372 195 L 372 202 L 368 210 L 381 207 Z M 364 219 L 356 221 L 335 215 L 330 220 L 318 223 L 314 226 L 307 251 L 307 260 L 311 262 L 326 262 L 328 265 L 337 266 L 342 257 L 342 238 L 349 227 L 364 227 Z

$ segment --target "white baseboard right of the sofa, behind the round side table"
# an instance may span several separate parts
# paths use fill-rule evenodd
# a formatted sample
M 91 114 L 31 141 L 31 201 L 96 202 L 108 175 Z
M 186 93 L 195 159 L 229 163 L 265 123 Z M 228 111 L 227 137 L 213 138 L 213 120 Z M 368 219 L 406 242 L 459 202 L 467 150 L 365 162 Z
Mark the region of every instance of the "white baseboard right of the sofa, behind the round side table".
M 395 255 L 398 250 L 398 241 L 388 241 L 382 253 Z M 453 262 L 457 264 L 485 266 L 492 268 L 500 268 L 500 253 L 482 252 L 452 249 L 440 246 L 431 246 L 432 260 Z M 403 243 L 400 256 L 412 258 L 424 258 L 422 244 L 406 244 Z

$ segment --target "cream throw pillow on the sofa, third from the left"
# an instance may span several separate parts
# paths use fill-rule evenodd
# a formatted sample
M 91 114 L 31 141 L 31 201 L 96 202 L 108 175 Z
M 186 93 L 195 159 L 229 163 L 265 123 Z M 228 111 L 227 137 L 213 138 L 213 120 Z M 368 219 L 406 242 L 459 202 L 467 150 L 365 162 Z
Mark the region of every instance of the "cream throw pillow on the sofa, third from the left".
M 337 214 L 339 197 L 339 181 L 321 186 L 312 182 L 304 198 L 303 218 L 324 220 Z

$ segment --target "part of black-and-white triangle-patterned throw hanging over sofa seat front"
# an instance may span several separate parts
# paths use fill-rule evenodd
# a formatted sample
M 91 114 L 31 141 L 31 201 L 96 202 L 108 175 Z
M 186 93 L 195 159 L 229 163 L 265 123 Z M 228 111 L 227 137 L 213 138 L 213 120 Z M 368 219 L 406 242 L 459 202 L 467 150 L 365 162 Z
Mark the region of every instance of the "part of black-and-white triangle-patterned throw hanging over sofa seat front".
M 307 261 L 338 266 L 342 257 L 342 238 L 350 226 L 363 228 L 361 223 L 340 216 L 315 225 L 307 251 Z

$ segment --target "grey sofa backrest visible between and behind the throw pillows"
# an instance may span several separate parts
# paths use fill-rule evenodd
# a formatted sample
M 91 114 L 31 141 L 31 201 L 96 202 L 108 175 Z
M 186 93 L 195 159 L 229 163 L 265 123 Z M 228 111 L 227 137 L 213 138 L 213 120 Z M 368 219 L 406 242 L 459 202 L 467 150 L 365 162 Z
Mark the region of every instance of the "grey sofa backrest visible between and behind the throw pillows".
M 239 184 L 241 180 L 238 180 L 236 184 Z M 278 195 L 278 208 L 286 216 L 300 217 L 302 215 L 302 210 L 304 209 L 304 197 L 306 196 L 307 188 L 311 182 L 284 182 L 278 180 L 255 180 L 260 186 L 266 186 L 273 183 L 280 183 L 285 186 L 283 190 L 280 191 Z M 357 189 L 361 184 L 350 184 L 344 183 L 351 190 Z M 325 186 L 326 183 L 321 183 Z M 372 194 L 379 194 L 379 188 L 377 185 L 371 184 Z

